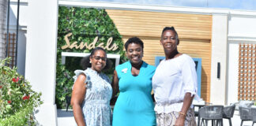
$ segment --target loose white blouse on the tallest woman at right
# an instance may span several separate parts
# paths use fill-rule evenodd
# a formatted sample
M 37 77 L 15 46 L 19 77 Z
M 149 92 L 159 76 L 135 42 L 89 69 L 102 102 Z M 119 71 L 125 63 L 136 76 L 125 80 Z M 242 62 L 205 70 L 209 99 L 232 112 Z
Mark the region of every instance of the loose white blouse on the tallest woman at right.
M 183 106 L 183 98 L 186 92 L 190 92 L 191 96 L 196 95 L 197 85 L 195 64 L 187 54 L 160 61 L 160 65 L 157 66 L 155 75 L 152 77 L 156 112 L 164 110 L 160 106 L 171 104 L 175 105 L 171 108 L 179 111 Z M 171 111 L 171 109 L 168 111 Z

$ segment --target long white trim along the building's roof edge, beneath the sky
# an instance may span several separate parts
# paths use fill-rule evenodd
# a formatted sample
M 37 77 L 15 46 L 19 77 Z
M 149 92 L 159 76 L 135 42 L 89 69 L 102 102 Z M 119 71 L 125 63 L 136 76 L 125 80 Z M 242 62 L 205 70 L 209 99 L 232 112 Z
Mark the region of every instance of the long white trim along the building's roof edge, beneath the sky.
M 81 0 L 67 1 L 59 0 L 59 6 L 79 6 L 79 7 L 94 7 L 100 9 L 125 9 L 149 12 L 165 12 L 165 13 L 193 13 L 193 14 L 232 14 L 234 16 L 252 16 L 256 17 L 256 11 L 219 9 L 219 8 L 200 8 L 200 7 L 178 7 L 178 6 L 145 6 L 138 4 L 115 3 L 115 2 L 84 2 Z

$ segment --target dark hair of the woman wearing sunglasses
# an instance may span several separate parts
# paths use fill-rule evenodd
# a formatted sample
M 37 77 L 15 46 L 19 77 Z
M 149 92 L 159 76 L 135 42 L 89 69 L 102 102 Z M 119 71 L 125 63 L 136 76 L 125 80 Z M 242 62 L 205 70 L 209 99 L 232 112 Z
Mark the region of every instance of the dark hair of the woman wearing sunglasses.
M 91 68 L 92 67 L 92 64 L 90 63 L 90 57 L 92 57 L 95 52 L 97 50 L 103 50 L 104 53 L 105 53 L 105 57 L 107 57 L 107 52 L 102 48 L 102 47 L 96 47 L 94 48 L 92 51 L 91 51 L 91 54 L 86 56 L 86 57 L 83 57 L 80 61 L 80 65 L 82 67 L 82 69 L 87 69 L 87 68 Z M 104 67 L 104 70 L 106 69 L 110 69 L 112 66 L 112 61 L 110 59 L 107 58 L 107 61 L 106 61 L 106 66 Z

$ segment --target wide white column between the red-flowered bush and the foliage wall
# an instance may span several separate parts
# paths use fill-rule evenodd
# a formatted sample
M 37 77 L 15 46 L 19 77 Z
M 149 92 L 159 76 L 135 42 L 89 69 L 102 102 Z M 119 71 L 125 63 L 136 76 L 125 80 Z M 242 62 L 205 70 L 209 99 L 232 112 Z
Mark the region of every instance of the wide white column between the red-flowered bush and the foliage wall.
M 43 105 L 36 113 L 40 125 L 57 125 L 55 74 L 58 0 L 28 0 L 25 78 L 42 92 Z

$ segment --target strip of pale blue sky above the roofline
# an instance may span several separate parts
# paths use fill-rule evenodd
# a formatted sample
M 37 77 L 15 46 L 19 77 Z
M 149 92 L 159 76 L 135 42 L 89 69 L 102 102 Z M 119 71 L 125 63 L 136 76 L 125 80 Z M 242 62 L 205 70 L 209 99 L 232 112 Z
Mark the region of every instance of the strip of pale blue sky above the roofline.
M 256 0 L 82 0 L 117 2 L 152 6 L 190 6 L 204 8 L 238 9 L 256 11 Z

